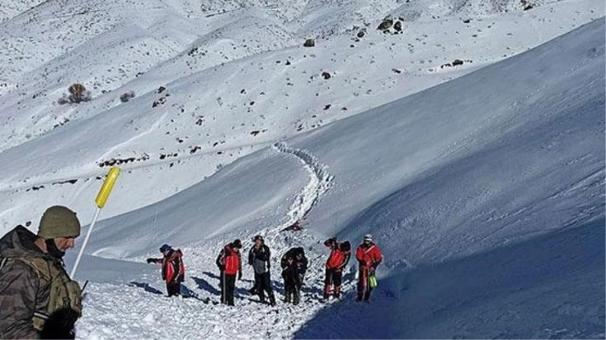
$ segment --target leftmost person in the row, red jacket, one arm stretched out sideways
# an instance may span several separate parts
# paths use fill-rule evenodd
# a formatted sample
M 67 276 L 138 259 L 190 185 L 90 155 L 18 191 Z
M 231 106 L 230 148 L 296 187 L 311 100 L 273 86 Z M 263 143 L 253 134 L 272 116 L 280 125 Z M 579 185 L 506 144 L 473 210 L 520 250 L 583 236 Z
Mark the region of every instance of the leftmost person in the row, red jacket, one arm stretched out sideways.
M 185 281 L 185 265 L 183 264 L 183 253 L 181 249 L 174 250 L 168 244 L 160 247 L 162 258 L 148 258 L 147 263 L 155 263 L 162 266 L 162 280 L 166 281 L 166 292 L 168 297 L 181 295 L 181 283 Z

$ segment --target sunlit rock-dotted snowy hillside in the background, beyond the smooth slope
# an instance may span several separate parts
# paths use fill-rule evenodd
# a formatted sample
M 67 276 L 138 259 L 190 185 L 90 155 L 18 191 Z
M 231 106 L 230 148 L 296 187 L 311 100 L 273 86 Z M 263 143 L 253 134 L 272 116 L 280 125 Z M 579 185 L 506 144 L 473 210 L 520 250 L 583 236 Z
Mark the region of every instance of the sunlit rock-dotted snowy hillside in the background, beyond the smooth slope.
M 114 198 L 104 212 L 111 217 L 278 140 L 606 15 L 601 0 L 544 2 L 528 11 L 419 18 L 404 22 L 402 34 L 385 34 L 375 29 L 381 19 L 399 17 L 408 4 L 235 4 L 52 0 L 2 22 L 0 230 L 34 221 L 57 201 L 90 218 L 85 208 L 105 174 L 101 165 L 126 162 L 119 189 L 128 195 Z M 335 23 L 339 29 L 330 28 Z M 308 36 L 318 36 L 316 47 L 301 46 Z M 463 64 L 453 67 L 456 59 Z M 73 82 L 93 100 L 59 105 Z M 136 97 L 122 103 L 128 91 Z

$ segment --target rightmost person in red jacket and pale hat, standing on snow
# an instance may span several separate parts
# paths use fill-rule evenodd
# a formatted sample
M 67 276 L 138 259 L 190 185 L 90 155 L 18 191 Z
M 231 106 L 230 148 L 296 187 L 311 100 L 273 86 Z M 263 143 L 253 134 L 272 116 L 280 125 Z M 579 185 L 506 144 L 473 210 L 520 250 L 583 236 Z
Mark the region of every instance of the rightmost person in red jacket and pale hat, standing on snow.
M 374 288 L 371 284 L 371 277 L 375 276 L 376 267 L 383 260 L 381 250 L 373 243 L 373 235 L 367 234 L 364 236 L 364 241 L 356 250 L 356 259 L 360 267 L 357 301 L 364 299 L 364 301 L 370 302 L 370 293 Z

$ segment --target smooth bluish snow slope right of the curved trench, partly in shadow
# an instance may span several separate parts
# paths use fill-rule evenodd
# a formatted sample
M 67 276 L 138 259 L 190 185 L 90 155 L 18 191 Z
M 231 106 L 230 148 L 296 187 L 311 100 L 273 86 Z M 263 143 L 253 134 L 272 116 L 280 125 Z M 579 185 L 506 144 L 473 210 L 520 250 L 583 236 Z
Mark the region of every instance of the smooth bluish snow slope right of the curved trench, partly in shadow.
M 605 24 L 294 143 L 336 178 L 310 224 L 372 230 L 390 269 L 381 304 L 328 308 L 297 338 L 604 336 Z

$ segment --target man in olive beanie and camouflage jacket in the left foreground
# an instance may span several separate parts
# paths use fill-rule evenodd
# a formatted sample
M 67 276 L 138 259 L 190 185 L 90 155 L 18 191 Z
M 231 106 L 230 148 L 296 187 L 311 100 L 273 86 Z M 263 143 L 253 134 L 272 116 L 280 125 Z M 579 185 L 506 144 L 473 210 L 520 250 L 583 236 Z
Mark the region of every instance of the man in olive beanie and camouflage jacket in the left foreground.
M 80 235 L 76 213 L 48 208 L 38 235 L 17 226 L 0 239 L 0 339 L 74 339 L 82 290 L 65 271 Z

